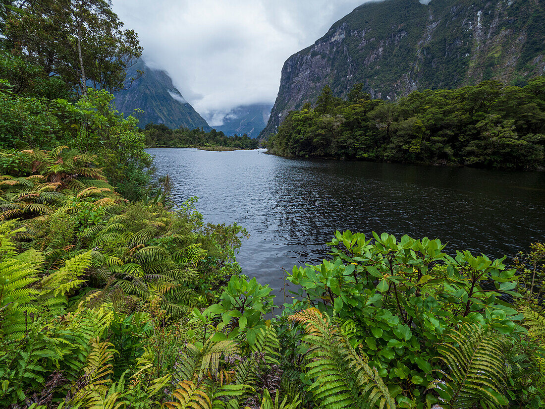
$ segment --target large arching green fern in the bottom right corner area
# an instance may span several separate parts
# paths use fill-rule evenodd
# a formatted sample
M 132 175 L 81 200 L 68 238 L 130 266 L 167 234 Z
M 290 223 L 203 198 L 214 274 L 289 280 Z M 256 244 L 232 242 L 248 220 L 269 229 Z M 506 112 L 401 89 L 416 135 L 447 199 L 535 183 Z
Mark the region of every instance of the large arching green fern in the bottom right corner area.
M 488 407 L 505 405 L 502 395 L 506 379 L 506 343 L 500 335 L 479 323 L 460 324 L 452 330 L 452 341 L 437 349 L 448 373 L 445 381 L 434 381 L 433 387 L 444 400 L 445 407 L 471 408 L 477 402 Z

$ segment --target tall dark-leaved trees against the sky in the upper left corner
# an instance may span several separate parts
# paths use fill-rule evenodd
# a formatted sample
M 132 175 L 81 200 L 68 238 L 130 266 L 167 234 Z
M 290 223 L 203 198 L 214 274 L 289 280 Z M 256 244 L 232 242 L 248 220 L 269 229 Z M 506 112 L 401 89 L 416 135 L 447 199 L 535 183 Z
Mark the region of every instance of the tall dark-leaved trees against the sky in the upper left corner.
M 122 89 L 125 69 L 142 55 L 137 34 L 123 29 L 108 0 L 17 0 L 14 5 L 0 27 L 5 46 L 82 95 L 89 83 Z

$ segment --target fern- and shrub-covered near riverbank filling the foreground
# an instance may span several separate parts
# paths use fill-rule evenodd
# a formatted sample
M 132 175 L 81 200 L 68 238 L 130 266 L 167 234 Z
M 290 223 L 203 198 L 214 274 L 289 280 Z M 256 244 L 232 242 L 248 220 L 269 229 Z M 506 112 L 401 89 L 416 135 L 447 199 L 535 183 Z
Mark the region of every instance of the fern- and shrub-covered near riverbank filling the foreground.
M 234 258 L 244 230 L 204 225 L 192 201 L 171 208 L 168 179 L 128 203 L 100 171 L 85 176 L 96 164 L 81 153 L 3 158 L 22 164 L 0 182 L 5 406 L 41 402 L 44 389 L 53 407 L 93 396 L 252 408 L 275 394 L 292 408 L 455 407 L 457 390 L 470 405 L 545 398 L 542 288 L 532 284 L 545 277 L 541 244 L 506 266 L 449 257 L 438 239 L 336 232 L 330 261 L 288 272 L 295 298 L 270 317 L 271 288 L 241 276 Z

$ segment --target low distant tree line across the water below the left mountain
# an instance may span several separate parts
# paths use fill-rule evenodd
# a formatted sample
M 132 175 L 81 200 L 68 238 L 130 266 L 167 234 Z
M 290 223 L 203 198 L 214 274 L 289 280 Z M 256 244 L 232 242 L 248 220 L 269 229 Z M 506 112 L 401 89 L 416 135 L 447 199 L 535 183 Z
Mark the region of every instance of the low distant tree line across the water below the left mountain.
M 146 146 L 161 148 L 199 148 L 199 147 L 231 147 L 239 149 L 256 149 L 259 142 L 248 135 L 225 136 L 215 129 L 204 132 L 202 129 L 170 129 L 163 124 L 147 124 L 143 130 L 146 135 Z

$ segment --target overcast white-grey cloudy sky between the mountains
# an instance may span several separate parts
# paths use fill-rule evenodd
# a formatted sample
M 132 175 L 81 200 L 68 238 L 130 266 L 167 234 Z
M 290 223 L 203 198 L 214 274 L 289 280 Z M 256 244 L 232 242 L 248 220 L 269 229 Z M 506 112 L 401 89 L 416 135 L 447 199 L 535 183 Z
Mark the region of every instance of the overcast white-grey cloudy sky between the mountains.
M 221 124 L 232 108 L 274 103 L 282 65 L 366 0 L 113 0 L 144 61 Z

